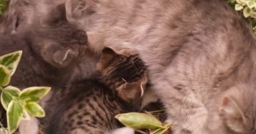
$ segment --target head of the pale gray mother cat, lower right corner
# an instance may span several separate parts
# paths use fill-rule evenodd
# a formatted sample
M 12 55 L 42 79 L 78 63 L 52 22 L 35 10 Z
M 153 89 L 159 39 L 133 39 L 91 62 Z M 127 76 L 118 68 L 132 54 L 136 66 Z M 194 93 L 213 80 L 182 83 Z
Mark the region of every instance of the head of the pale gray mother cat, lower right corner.
M 256 91 L 247 85 L 238 85 L 218 97 L 216 112 L 209 120 L 208 128 L 218 134 L 255 134 Z

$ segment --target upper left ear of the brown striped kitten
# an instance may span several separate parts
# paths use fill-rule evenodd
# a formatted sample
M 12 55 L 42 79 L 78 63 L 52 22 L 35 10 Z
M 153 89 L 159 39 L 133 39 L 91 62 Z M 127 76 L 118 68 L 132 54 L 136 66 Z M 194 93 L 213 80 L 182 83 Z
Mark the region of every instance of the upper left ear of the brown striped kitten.
M 117 54 L 117 52 L 115 52 L 112 48 L 105 47 L 101 51 L 101 59 L 97 64 L 97 68 L 100 70 L 107 67 L 109 65 L 109 62 L 111 62 L 112 59 L 117 55 L 119 54 Z

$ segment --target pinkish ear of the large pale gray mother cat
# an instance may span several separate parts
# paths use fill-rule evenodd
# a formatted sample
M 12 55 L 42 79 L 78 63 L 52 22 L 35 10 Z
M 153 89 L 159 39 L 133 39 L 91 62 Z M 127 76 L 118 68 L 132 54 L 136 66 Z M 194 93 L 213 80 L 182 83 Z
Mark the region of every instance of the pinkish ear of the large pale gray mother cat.
M 242 133 L 245 116 L 242 109 L 233 98 L 224 97 L 219 107 L 219 115 L 225 124 L 233 131 Z

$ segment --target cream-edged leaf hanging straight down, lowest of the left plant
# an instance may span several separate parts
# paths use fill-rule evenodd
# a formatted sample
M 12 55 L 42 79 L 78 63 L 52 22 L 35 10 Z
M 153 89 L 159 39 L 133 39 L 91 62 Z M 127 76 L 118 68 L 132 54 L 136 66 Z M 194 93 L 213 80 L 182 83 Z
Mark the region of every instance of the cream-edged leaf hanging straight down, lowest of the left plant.
M 23 115 L 23 108 L 17 101 L 11 101 L 7 108 L 7 126 L 9 134 L 12 134 L 19 126 Z

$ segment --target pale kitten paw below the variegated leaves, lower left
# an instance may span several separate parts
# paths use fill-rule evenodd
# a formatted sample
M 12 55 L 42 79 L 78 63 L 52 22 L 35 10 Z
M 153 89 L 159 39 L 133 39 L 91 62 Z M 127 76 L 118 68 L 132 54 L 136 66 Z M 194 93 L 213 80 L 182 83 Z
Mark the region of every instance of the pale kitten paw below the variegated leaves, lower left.
M 19 125 L 19 134 L 38 134 L 39 121 L 37 118 L 30 116 L 30 120 L 22 120 Z

